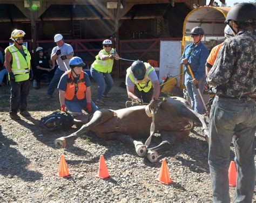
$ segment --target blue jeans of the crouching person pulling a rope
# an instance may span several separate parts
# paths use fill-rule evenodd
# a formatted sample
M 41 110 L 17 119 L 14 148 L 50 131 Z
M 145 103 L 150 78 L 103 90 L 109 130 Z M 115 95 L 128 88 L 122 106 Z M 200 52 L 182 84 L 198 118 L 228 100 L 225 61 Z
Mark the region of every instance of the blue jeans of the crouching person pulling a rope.
M 110 89 L 114 85 L 114 81 L 110 75 L 110 73 L 102 73 L 96 71 L 96 69 L 91 67 L 91 75 L 92 78 L 98 83 L 98 95 L 97 100 L 102 100 L 102 95 L 107 95 Z M 106 87 L 105 87 L 106 83 Z

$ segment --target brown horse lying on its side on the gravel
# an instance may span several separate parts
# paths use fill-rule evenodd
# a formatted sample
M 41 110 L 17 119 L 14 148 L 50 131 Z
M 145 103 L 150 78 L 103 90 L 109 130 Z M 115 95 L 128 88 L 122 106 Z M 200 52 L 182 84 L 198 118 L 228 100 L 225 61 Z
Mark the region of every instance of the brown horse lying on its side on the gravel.
M 93 115 L 82 115 L 75 119 L 76 123 L 84 125 L 73 134 L 55 140 L 58 147 L 65 147 L 70 141 L 89 130 L 104 139 L 116 139 L 125 144 L 134 144 L 136 152 L 143 157 L 147 153 L 150 162 L 158 161 L 158 151 L 170 149 L 176 141 L 190 134 L 193 121 L 203 125 L 207 141 L 207 125 L 204 116 L 193 111 L 190 104 L 181 97 L 169 97 L 158 103 L 154 114 L 154 132 L 161 135 L 162 142 L 150 149 L 142 142 L 134 139 L 149 137 L 152 132 L 152 118 L 146 114 L 148 106 L 135 106 L 119 110 L 101 109 Z

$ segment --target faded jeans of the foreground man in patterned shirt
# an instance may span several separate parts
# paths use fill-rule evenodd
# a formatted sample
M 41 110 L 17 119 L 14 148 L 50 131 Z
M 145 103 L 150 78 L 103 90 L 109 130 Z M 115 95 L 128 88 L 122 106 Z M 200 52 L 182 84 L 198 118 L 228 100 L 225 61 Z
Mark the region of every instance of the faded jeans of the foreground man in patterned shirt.
M 208 163 L 213 202 L 230 202 L 228 166 L 233 138 L 237 187 L 234 202 L 252 202 L 254 192 L 254 101 L 215 96 L 210 113 Z

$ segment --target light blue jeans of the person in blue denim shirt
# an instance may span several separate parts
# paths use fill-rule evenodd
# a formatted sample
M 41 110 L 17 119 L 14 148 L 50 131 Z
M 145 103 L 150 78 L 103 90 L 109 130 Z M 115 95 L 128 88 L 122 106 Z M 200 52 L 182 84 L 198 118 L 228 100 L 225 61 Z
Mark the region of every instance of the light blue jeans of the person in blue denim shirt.
M 198 93 L 196 86 L 192 82 L 192 77 L 187 73 L 185 74 L 185 86 L 187 89 L 187 94 L 188 96 L 190 96 L 192 109 L 194 111 L 197 111 L 197 113 L 199 114 L 203 114 L 204 104 L 200 98 L 200 95 Z M 205 78 L 203 77 L 203 78 L 200 78 L 198 82 L 198 87 L 201 95 L 203 95 L 204 86 L 205 86 Z

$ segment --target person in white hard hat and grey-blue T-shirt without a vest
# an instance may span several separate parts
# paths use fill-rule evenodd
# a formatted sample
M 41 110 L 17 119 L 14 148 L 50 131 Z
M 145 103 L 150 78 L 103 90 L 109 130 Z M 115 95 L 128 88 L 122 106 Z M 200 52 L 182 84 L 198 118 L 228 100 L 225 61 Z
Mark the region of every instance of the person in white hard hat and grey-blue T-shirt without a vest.
M 64 43 L 62 34 L 55 34 L 54 42 L 57 46 L 52 49 L 51 60 L 57 60 L 58 68 L 56 69 L 50 85 L 48 86 L 46 99 L 51 99 L 60 77 L 65 73 L 65 71 L 69 71 L 69 60 L 74 55 L 72 46 Z

